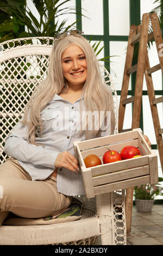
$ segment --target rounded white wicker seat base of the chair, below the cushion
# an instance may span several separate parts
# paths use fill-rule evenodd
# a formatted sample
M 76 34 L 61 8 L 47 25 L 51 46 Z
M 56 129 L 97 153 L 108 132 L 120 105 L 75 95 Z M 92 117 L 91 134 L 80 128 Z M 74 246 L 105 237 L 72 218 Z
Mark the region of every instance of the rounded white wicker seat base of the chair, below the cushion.
M 83 209 L 78 221 L 51 225 L 0 227 L 0 245 L 92 245 L 99 235 L 95 212 Z M 88 216 L 88 217 L 87 217 Z

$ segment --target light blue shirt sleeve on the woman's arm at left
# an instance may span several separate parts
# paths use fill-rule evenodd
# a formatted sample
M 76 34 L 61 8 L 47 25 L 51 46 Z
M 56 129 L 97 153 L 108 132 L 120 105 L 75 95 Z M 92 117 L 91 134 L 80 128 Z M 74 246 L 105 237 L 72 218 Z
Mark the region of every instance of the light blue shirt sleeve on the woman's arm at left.
M 60 152 L 29 144 L 27 133 L 27 125 L 19 121 L 5 141 L 5 154 L 19 161 L 54 168 L 55 159 Z

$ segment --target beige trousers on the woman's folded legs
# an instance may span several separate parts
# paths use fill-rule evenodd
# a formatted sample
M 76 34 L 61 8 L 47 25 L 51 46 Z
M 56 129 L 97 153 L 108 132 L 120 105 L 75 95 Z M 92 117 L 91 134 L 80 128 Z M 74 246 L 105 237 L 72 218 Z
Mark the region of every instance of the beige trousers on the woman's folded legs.
M 57 215 L 68 208 L 71 198 L 57 191 L 54 176 L 32 181 L 16 159 L 0 166 L 0 225 L 9 212 L 24 218 Z

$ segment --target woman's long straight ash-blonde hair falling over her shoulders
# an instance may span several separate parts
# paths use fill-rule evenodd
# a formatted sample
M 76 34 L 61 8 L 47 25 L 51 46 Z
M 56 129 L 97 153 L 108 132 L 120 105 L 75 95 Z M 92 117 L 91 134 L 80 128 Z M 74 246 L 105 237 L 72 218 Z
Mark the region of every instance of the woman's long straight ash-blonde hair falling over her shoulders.
M 82 109 L 82 99 L 84 97 L 85 111 L 110 111 L 111 112 L 111 133 L 115 129 L 115 114 L 112 94 L 102 79 L 99 63 L 96 54 L 90 43 L 83 36 L 66 35 L 65 38 L 57 40 L 49 58 L 48 74 L 45 80 L 37 87 L 26 107 L 22 124 L 28 125 L 27 140 L 30 144 L 35 144 L 37 135 L 42 136 L 41 111 L 55 94 L 59 94 L 66 84 L 62 72 L 61 57 L 66 48 L 70 45 L 77 45 L 82 48 L 87 63 L 87 78 L 80 96 L 80 109 Z M 100 129 L 85 131 L 86 138 L 98 137 Z M 81 131 L 82 132 L 82 131 Z

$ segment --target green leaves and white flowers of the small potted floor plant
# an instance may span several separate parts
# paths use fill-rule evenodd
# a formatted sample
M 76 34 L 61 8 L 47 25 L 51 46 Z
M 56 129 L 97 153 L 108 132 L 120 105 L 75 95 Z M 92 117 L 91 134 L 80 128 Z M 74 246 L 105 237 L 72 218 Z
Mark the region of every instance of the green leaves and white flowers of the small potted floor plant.
M 159 178 L 159 181 L 163 181 L 162 178 Z M 134 196 L 135 199 L 141 200 L 152 200 L 155 196 L 163 196 L 163 188 L 160 184 L 144 184 L 141 186 L 134 187 Z

